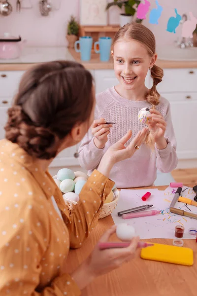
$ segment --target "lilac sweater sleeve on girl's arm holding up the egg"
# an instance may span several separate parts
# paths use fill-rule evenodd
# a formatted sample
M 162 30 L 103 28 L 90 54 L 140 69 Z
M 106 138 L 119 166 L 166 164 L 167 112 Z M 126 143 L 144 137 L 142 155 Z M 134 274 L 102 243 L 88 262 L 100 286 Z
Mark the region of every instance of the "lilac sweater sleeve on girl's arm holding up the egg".
M 169 173 L 176 168 L 178 161 L 176 155 L 176 138 L 172 125 L 169 102 L 167 106 L 165 121 L 167 125 L 164 137 L 167 141 L 167 146 L 164 149 L 158 149 L 155 145 L 155 150 L 157 155 L 157 168 L 163 173 Z

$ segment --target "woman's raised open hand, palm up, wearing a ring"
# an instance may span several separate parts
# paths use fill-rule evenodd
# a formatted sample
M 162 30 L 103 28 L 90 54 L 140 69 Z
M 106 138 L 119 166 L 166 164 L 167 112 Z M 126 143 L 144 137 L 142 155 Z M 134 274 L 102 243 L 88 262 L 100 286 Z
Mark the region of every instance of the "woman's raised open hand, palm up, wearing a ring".
M 125 144 L 132 135 L 132 132 L 128 131 L 121 140 L 107 149 L 102 159 L 100 160 L 98 171 L 106 177 L 109 177 L 113 165 L 119 161 L 130 158 L 136 152 L 135 145 L 140 146 L 144 142 L 147 132 L 148 129 L 143 128 L 137 133 L 131 143 L 127 147 L 125 147 Z

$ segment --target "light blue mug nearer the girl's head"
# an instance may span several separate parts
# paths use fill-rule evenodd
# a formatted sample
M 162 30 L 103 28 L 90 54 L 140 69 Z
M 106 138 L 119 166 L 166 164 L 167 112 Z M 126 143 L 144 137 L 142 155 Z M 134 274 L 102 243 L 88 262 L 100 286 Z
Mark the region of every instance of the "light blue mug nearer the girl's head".
M 100 37 L 99 41 L 95 42 L 94 50 L 96 53 L 100 54 L 100 61 L 109 61 L 111 52 L 111 42 L 111 37 Z M 97 50 L 97 45 L 99 45 L 99 50 Z

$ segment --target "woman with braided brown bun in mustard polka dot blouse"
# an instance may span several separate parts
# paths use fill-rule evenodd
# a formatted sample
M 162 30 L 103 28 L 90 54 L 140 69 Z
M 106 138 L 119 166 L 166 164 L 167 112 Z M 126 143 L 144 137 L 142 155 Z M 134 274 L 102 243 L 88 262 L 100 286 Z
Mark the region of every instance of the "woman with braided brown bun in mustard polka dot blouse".
M 125 249 L 96 246 L 72 274 L 65 271 L 69 248 L 80 247 L 98 222 L 114 185 L 111 168 L 131 157 L 146 135 L 143 129 L 125 148 L 129 131 L 109 148 L 69 210 L 48 166 L 82 140 L 94 108 L 93 78 L 78 63 L 45 63 L 22 77 L 0 141 L 0 295 L 80 295 L 97 276 L 133 257 L 138 238 Z

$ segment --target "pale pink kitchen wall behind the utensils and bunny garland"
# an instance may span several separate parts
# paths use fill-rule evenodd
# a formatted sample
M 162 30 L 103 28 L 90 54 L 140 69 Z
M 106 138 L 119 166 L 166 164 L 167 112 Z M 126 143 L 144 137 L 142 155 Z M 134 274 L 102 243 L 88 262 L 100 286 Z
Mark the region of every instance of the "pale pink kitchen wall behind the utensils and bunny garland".
M 23 1 L 23 0 L 22 0 Z M 109 0 L 111 1 L 111 0 Z M 143 0 L 142 0 L 143 1 Z M 149 0 L 151 8 L 156 7 L 155 0 Z M 12 35 L 20 35 L 28 40 L 30 46 L 64 46 L 66 45 L 66 24 L 69 16 L 73 14 L 79 19 L 80 0 L 50 0 L 55 5 L 61 3 L 59 10 L 52 10 L 49 16 L 41 16 L 38 7 L 38 0 L 31 0 L 32 9 L 21 9 L 16 12 L 16 0 L 9 0 L 13 5 L 13 12 L 9 16 L 0 16 L 0 35 L 9 32 Z M 181 35 L 181 27 L 177 33 L 166 32 L 166 24 L 170 16 L 175 16 L 174 8 L 179 14 L 192 11 L 197 16 L 197 0 L 159 0 L 164 10 L 159 20 L 159 25 L 151 25 L 147 20 L 143 24 L 150 28 L 155 34 L 158 44 L 171 44 Z M 112 7 L 108 13 L 110 24 L 119 23 L 119 8 Z

